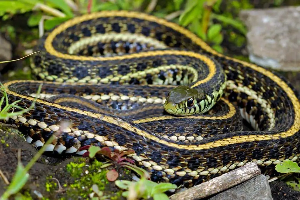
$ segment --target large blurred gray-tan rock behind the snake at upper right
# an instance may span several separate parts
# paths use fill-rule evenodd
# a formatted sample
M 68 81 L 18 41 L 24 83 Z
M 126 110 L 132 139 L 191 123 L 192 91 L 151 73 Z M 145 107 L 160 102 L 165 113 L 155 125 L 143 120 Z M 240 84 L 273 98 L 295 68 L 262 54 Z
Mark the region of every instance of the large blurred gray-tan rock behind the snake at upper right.
M 283 71 L 300 70 L 300 6 L 243 10 L 251 62 Z

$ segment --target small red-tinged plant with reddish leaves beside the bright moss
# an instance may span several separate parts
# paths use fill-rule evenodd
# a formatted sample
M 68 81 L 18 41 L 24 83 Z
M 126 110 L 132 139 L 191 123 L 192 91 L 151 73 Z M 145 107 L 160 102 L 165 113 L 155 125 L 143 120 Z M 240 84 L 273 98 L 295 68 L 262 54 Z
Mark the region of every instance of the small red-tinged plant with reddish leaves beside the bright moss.
M 119 151 L 117 149 L 114 149 L 114 151 L 111 151 L 109 147 L 97 147 L 97 146 L 91 146 L 87 145 L 79 149 L 79 151 L 82 150 L 88 150 L 83 154 L 83 157 L 90 157 L 93 158 L 95 157 L 96 160 L 107 160 L 110 163 L 105 163 L 104 165 L 101 166 L 101 168 L 106 168 L 108 166 L 114 165 L 116 168 L 119 167 L 127 167 L 134 172 L 136 172 L 138 175 L 141 177 L 144 177 L 146 179 L 150 180 L 150 175 L 146 170 L 137 167 L 134 165 L 134 160 L 130 158 L 126 158 L 126 156 L 130 154 L 134 154 L 134 150 L 128 150 L 128 151 Z M 107 180 L 109 181 L 115 181 L 119 177 L 119 173 L 117 172 L 116 169 L 112 169 L 107 172 L 106 174 Z

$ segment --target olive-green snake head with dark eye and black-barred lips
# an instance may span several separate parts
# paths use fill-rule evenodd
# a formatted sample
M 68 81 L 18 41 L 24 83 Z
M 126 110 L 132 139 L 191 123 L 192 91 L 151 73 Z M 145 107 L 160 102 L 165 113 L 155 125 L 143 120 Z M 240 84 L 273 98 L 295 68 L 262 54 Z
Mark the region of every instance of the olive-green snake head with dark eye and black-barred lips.
M 203 110 L 199 102 L 205 98 L 205 91 L 202 88 L 179 85 L 168 93 L 164 109 L 177 116 L 198 114 Z

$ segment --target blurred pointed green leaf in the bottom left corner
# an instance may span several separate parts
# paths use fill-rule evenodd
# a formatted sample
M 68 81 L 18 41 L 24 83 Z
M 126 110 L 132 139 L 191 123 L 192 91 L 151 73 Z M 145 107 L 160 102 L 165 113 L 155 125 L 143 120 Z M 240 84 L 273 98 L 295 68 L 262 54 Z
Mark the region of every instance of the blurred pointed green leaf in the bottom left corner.
M 19 190 L 22 189 L 22 187 L 26 184 L 28 181 L 29 174 L 25 170 L 24 166 L 22 163 L 18 163 L 16 173 L 13 176 L 13 179 L 8 186 L 7 190 L 4 192 L 3 196 L 1 198 L 6 199 L 10 195 L 16 194 L 19 192 Z

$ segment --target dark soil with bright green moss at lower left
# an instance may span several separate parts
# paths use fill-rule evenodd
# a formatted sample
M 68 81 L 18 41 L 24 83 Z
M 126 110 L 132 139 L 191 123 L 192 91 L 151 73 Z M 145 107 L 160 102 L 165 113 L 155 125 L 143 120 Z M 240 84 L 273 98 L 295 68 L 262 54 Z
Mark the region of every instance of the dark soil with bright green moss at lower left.
M 26 166 L 37 150 L 25 141 L 14 126 L 0 124 L 0 141 L 0 170 L 11 182 L 18 163 L 18 151 L 21 150 L 20 160 Z M 20 192 L 33 199 L 41 197 L 79 199 L 87 198 L 93 192 L 91 186 L 97 184 L 99 190 L 105 190 L 104 195 L 108 199 L 124 199 L 121 196 L 122 191 L 115 183 L 107 181 L 105 176 L 107 169 L 100 169 L 100 165 L 102 163 L 90 161 L 88 158 L 70 157 L 59 160 L 42 156 L 29 170 L 29 180 Z M 132 180 L 128 172 L 128 170 L 119 172 L 118 179 Z M 95 174 L 97 177 L 92 180 L 91 177 L 95 177 Z M 59 181 L 61 189 L 58 187 L 57 180 L 52 178 Z M 0 196 L 7 187 L 3 177 L 0 176 Z

